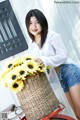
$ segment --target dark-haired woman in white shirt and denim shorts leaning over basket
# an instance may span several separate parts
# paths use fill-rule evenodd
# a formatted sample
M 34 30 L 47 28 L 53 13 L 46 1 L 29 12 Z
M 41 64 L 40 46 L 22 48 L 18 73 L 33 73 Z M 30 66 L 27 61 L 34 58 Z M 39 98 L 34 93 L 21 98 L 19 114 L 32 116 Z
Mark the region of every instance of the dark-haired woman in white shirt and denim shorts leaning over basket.
M 48 30 L 47 20 L 41 11 L 30 10 L 25 23 L 32 39 L 30 48 L 33 48 L 32 53 L 38 57 L 36 61 L 55 69 L 68 102 L 76 116 L 80 118 L 80 69 L 68 58 L 60 36 Z M 48 76 L 48 79 L 52 77 Z

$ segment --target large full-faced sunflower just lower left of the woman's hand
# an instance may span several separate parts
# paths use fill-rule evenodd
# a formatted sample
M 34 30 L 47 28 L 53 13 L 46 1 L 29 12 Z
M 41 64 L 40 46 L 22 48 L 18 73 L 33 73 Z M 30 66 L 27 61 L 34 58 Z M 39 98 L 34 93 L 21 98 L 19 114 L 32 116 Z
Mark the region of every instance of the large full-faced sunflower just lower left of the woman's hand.
M 25 61 L 23 65 L 25 66 L 26 71 L 31 74 L 38 70 L 38 63 L 34 60 Z

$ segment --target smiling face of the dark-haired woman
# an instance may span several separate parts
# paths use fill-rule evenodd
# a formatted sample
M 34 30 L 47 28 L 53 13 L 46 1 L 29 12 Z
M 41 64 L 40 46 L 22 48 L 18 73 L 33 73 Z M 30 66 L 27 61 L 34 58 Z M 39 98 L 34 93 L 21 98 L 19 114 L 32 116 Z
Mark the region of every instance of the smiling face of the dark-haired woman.
M 32 35 L 36 36 L 36 35 L 41 34 L 41 31 L 42 31 L 42 27 L 40 23 L 38 22 L 35 16 L 32 16 L 30 18 L 30 23 L 29 23 L 29 32 Z

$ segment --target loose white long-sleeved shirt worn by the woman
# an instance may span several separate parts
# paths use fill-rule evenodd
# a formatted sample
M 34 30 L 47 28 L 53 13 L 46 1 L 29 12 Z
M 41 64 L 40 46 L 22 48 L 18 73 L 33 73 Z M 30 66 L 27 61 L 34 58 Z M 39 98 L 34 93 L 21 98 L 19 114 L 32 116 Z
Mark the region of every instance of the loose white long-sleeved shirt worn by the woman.
M 66 48 L 59 34 L 48 31 L 46 42 L 41 49 L 34 42 L 30 45 L 32 53 L 42 59 L 46 66 L 57 67 L 68 59 Z

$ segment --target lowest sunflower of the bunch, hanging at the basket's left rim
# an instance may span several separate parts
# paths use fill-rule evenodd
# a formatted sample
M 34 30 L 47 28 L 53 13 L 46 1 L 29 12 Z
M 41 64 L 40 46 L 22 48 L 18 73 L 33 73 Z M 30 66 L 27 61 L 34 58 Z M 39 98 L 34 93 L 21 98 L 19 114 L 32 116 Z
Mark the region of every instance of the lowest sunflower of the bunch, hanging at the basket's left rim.
M 8 87 L 14 91 L 14 92 L 19 92 L 24 88 L 24 83 L 23 81 L 15 81 L 14 83 L 12 83 L 11 85 L 8 85 Z

